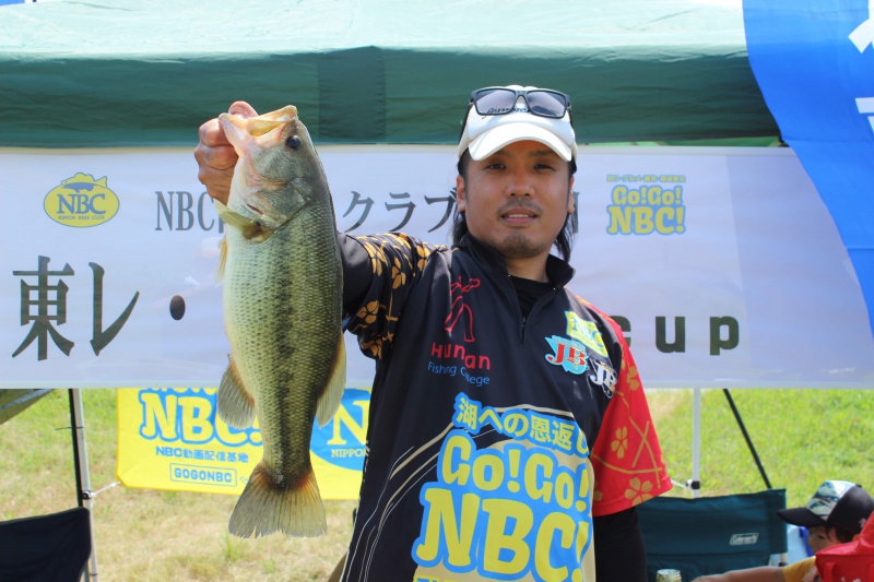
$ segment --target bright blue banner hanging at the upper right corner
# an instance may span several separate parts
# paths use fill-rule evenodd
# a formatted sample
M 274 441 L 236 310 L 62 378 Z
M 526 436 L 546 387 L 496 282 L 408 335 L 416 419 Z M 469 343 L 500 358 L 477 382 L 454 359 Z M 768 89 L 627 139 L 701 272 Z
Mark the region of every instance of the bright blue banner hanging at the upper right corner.
M 744 0 L 753 72 L 835 219 L 874 329 L 872 16 L 866 0 Z

